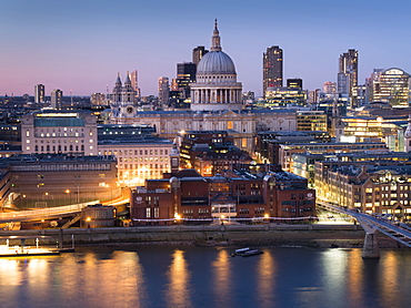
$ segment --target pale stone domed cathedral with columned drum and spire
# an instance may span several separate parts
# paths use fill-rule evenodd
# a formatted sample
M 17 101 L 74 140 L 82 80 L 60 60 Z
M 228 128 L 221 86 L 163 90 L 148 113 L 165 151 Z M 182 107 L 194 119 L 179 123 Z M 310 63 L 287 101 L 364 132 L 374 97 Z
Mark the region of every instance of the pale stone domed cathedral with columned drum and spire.
M 242 84 L 237 81 L 234 62 L 222 51 L 215 21 L 212 44 L 199 62 L 191 86 L 191 111 L 138 111 L 128 102 L 112 105 L 112 124 L 147 124 L 173 140 L 182 131 L 225 131 L 241 150 L 252 152 L 257 131 L 295 131 L 292 110 L 242 110 Z M 119 107 L 120 106 L 120 107 Z M 121 107 L 122 106 L 122 107 Z

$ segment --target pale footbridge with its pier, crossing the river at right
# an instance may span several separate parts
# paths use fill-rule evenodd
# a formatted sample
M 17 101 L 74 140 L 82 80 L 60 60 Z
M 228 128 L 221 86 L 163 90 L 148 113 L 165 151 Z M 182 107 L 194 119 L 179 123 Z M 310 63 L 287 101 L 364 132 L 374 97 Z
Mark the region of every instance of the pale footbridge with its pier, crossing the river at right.
M 317 204 L 325 209 L 338 212 L 341 214 L 350 215 L 355 218 L 361 227 L 365 230 L 365 242 L 363 257 L 368 258 L 367 254 L 370 254 L 371 258 L 379 257 L 378 243 L 375 232 L 379 230 L 382 234 L 395 239 L 397 242 L 411 247 L 411 227 L 402 223 L 392 223 L 385 218 L 374 217 L 372 215 L 359 213 L 353 209 L 344 209 L 339 206 L 331 205 L 327 202 L 317 202 Z M 365 250 L 371 249 L 369 253 Z M 364 256 L 365 254 L 365 256 Z

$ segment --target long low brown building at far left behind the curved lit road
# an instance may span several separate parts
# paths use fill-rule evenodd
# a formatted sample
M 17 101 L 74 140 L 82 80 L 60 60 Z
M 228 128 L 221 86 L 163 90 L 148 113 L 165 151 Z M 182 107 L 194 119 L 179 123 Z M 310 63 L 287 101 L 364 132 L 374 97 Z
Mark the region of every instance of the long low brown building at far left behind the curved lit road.
M 8 199 L 18 207 L 49 207 L 120 196 L 113 156 L 66 154 L 3 158 L 9 172 Z

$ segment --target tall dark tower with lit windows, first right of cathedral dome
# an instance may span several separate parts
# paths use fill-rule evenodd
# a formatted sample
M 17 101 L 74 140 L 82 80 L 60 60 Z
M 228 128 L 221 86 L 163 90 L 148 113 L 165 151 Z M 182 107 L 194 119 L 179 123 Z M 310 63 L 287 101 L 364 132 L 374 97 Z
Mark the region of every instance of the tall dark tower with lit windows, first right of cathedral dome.
M 270 47 L 262 58 L 262 90 L 282 86 L 282 49 Z

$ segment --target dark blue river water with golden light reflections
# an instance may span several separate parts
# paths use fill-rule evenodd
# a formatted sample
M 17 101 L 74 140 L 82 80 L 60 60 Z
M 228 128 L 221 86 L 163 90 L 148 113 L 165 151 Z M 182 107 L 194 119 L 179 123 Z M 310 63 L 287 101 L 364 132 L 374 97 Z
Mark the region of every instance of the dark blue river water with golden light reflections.
M 411 250 L 133 246 L 1 258 L 0 307 L 411 307 Z

